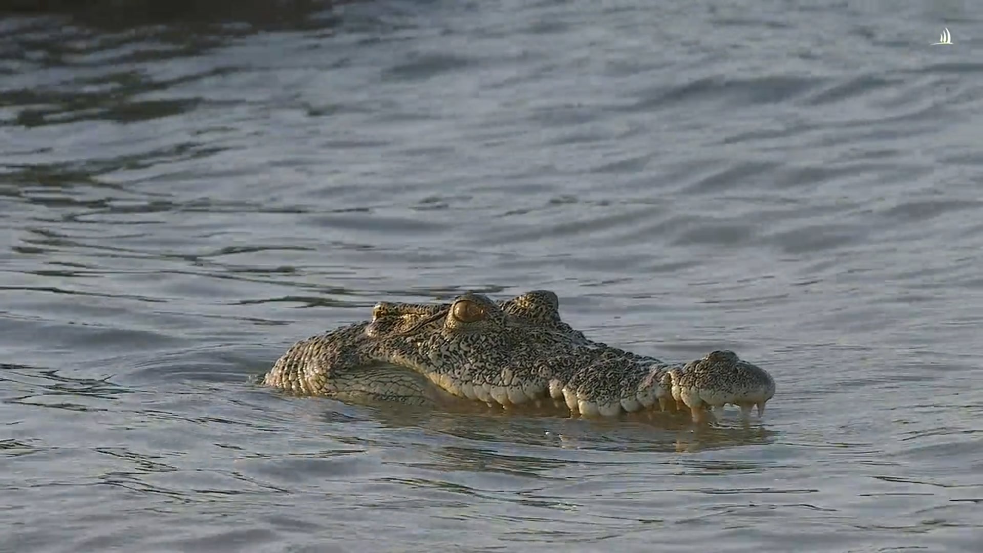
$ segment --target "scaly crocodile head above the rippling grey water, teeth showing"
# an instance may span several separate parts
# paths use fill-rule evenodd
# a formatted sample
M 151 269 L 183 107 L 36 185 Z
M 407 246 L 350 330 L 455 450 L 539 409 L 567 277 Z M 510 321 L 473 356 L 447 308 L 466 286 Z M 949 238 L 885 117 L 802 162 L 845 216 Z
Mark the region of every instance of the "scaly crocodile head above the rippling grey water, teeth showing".
M 301 395 L 504 406 L 553 399 L 571 413 L 613 416 L 656 405 L 738 405 L 759 415 L 775 395 L 764 369 L 714 351 L 669 364 L 585 338 L 560 320 L 549 290 L 494 302 L 467 293 L 450 303 L 382 302 L 372 321 L 295 343 L 264 384 Z

